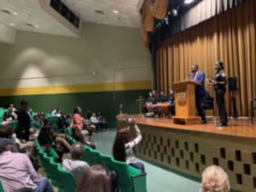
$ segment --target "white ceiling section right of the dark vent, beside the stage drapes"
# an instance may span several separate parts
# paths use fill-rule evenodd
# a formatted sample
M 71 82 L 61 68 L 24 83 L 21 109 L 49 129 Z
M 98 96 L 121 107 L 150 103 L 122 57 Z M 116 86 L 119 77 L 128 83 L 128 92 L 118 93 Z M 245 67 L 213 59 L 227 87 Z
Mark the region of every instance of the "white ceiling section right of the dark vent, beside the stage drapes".
M 141 26 L 137 12 L 139 0 L 62 0 L 61 2 L 84 22 L 136 28 Z M 103 14 L 97 14 L 96 10 L 101 10 Z M 113 10 L 119 13 L 115 14 Z

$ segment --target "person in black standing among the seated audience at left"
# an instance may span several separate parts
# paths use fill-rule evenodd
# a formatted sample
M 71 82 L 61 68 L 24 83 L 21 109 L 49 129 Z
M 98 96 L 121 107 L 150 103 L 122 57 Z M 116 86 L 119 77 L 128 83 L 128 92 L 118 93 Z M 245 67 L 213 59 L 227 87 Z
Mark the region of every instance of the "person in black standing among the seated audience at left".
M 26 141 L 29 140 L 29 128 L 30 128 L 30 117 L 26 112 L 27 107 L 28 107 L 28 102 L 25 99 L 23 99 L 20 102 L 20 109 L 17 111 L 18 125 L 16 128 L 17 137 L 20 139 L 24 139 Z

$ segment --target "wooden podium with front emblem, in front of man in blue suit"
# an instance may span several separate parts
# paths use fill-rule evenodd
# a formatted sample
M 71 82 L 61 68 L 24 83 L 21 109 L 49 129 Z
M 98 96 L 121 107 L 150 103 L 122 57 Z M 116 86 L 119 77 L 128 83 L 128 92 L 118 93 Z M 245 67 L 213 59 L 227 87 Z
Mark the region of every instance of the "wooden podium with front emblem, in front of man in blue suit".
M 195 86 L 201 85 L 194 81 L 176 82 L 174 124 L 201 124 L 201 117 L 195 116 Z

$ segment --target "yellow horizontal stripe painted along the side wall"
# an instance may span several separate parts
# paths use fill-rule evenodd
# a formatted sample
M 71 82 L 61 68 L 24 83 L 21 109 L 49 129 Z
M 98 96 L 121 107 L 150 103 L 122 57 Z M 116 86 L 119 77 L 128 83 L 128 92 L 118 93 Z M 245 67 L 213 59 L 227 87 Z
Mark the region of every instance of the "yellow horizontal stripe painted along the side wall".
M 43 87 L 0 89 L 0 96 L 28 96 L 61 93 L 100 92 L 113 90 L 149 90 L 151 81 L 133 81 L 105 84 L 73 84 Z

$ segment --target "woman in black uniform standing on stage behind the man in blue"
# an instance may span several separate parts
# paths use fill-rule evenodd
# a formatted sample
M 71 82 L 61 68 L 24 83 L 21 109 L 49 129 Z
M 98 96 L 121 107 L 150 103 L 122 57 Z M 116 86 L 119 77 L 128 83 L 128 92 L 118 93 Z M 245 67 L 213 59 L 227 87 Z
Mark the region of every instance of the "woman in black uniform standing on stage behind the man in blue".
M 217 61 L 214 66 L 216 70 L 216 74 L 213 77 L 213 80 L 209 80 L 208 84 L 212 84 L 214 86 L 214 90 L 216 93 L 216 102 L 218 104 L 218 115 L 220 119 L 220 123 L 217 126 L 227 126 L 228 117 L 225 108 L 224 94 L 226 92 L 226 74 L 224 73 L 224 65 L 223 62 Z

